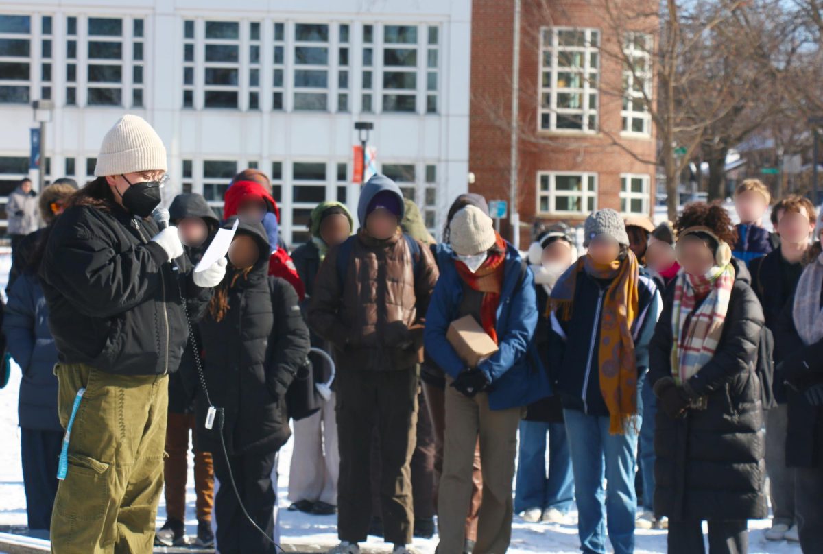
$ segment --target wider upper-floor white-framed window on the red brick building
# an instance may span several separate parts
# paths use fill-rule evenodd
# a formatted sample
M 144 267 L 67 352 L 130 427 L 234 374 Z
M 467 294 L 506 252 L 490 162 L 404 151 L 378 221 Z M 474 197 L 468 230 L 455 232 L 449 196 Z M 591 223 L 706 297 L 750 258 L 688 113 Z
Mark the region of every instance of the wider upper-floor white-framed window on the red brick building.
M 572 31 L 584 33 L 583 46 L 562 46 L 559 45 L 558 37 L 560 32 Z M 541 27 L 540 30 L 540 63 L 537 75 L 537 130 L 551 133 L 597 133 L 600 121 L 600 72 L 601 72 L 601 53 L 600 41 L 602 40 L 602 33 L 599 29 L 589 27 Z M 563 86 L 558 87 L 558 73 L 560 67 L 558 65 L 558 57 L 560 52 L 570 54 L 582 54 L 583 67 L 570 68 L 570 73 L 579 73 L 582 82 L 580 86 Z M 593 56 L 597 63 L 591 64 Z M 546 58 L 549 58 L 550 63 L 546 65 Z M 565 71 L 564 71 L 565 72 Z M 549 75 L 549 85 L 544 86 L 544 73 Z M 579 108 L 558 108 L 557 96 L 565 95 L 579 95 Z M 548 103 L 545 99 L 548 98 Z M 546 105 L 547 104 L 547 105 Z M 592 106 L 592 104 L 594 104 Z M 549 124 L 547 127 L 543 126 L 543 116 L 547 115 Z M 579 115 L 581 118 L 581 128 L 558 128 L 558 116 Z

